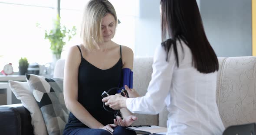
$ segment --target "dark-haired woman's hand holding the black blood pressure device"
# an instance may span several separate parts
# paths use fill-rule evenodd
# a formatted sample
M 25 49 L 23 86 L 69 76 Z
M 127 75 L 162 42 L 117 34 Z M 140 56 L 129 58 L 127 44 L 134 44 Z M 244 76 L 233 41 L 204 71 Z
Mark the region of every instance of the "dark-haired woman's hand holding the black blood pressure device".
M 119 110 L 121 108 L 126 108 L 126 99 L 127 97 L 115 94 L 103 98 L 102 102 L 105 102 L 105 105 L 112 109 Z

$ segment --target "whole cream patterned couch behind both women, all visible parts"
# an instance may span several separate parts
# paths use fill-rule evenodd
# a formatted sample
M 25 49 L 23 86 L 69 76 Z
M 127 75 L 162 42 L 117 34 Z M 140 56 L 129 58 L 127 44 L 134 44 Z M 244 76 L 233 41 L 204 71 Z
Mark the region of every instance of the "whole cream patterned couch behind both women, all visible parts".
M 256 57 L 218 58 L 216 102 L 225 127 L 256 122 Z M 135 58 L 133 87 L 142 96 L 151 80 L 153 58 Z M 54 77 L 63 77 L 65 60 L 56 63 Z M 167 110 L 159 115 L 136 114 L 135 125 L 166 127 Z

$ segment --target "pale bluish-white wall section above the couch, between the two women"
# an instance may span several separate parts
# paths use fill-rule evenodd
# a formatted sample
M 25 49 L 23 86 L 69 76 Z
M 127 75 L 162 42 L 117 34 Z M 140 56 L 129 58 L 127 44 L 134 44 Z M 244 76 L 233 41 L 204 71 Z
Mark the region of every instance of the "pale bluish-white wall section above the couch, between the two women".
M 139 0 L 135 19 L 135 57 L 154 56 L 156 45 L 161 44 L 160 0 Z M 200 0 L 197 0 L 200 8 Z

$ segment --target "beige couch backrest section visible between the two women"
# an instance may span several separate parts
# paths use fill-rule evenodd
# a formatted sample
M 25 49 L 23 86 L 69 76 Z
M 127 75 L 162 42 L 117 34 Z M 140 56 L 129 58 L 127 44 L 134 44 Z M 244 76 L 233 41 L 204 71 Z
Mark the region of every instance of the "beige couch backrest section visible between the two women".
M 144 96 L 151 80 L 153 58 L 135 58 L 133 65 L 133 88 Z M 158 125 L 158 115 L 135 114 L 138 121 L 133 125 Z

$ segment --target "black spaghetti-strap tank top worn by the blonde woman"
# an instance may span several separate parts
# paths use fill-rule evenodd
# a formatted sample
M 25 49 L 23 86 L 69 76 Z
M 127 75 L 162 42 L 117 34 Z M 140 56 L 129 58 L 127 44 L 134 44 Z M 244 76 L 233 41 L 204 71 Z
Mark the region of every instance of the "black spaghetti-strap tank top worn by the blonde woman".
M 79 48 L 79 46 L 77 45 Z M 95 67 L 85 60 L 81 53 L 81 63 L 78 72 L 78 102 L 88 110 L 88 112 L 103 125 L 114 123 L 113 113 L 107 112 L 102 106 L 102 96 L 104 91 L 108 91 L 112 87 L 118 87 L 121 81 L 121 45 L 120 59 L 111 68 L 102 70 Z M 115 94 L 115 93 L 111 93 Z M 69 113 L 69 120 L 65 130 L 77 127 L 88 127 L 80 122 L 72 113 Z

